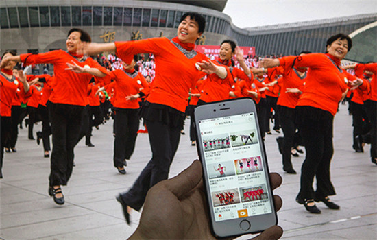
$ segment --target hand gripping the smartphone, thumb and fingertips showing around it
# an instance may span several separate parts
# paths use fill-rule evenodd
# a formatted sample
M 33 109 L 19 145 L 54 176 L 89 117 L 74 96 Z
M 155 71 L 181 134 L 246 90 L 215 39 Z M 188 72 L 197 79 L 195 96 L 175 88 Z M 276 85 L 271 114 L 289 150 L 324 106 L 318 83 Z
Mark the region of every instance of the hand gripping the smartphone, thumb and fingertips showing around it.
M 278 173 L 271 173 L 270 178 L 273 189 L 280 186 Z M 215 239 L 204 194 L 202 164 L 195 160 L 178 176 L 149 190 L 140 223 L 130 239 Z M 278 211 L 282 200 L 274 198 Z M 282 232 L 279 226 L 272 226 L 254 239 L 279 239 Z

